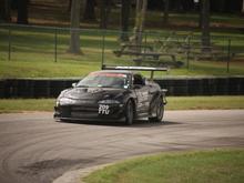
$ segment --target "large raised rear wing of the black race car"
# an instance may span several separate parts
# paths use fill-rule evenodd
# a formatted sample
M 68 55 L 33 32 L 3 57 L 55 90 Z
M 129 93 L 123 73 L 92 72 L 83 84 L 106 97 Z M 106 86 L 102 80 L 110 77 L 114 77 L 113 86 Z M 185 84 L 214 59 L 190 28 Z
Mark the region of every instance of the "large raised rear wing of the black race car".
M 155 71 L 169 71 L 169 68 L 153 68 L 153 67 L 113 67 L 102 65 L 102 70 L 130 70 L 130 71 L 151 71 L 151 79 L 153 79 Z

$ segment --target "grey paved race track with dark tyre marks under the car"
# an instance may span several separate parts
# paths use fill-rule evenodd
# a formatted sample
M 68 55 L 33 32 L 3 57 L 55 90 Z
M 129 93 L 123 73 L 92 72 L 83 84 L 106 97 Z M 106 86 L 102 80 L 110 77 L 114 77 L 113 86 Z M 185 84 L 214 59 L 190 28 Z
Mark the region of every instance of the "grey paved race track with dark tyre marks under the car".
M 244 146 L 244 110 L 166 111 L 165 123 L 59 123 L 0 114 L 0 182 L 50 183 L 67 171 L 189 149 Z

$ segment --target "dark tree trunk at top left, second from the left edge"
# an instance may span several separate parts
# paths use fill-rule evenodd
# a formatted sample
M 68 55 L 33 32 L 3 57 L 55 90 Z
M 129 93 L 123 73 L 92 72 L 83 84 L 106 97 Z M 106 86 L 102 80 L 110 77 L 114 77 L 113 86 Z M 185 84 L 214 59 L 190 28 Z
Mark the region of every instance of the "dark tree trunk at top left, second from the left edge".
M 29 0 L 18 0 L 17 23 L 28 24 L 28 4 Z

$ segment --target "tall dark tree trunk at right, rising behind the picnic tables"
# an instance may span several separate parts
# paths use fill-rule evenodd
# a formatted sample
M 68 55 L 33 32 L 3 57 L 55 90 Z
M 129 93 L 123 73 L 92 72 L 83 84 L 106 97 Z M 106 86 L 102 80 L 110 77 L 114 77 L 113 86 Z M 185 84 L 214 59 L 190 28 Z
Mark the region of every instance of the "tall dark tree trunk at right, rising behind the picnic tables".
M 203 51 L 210 51 L 210 0 L 202 0 L 202 47 Z

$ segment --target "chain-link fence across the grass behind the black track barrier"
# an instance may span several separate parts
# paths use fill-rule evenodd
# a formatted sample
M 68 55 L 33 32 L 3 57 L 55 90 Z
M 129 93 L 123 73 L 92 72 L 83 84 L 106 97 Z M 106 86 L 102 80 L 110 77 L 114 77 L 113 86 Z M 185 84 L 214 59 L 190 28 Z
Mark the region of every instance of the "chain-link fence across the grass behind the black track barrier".
M 69 28 L 1 24 L 0 61 L 80 61 L 99 67 L 152 65 L 196 72 L 211 68 L 237 74 L 244 63 L 242 34 L 213 33 L 207 42 L 200 33 L 187 31 L 145 31 L 142 40 L 133 32 L 79 29 L 79 33 L 82 53 L 71 54 Z

